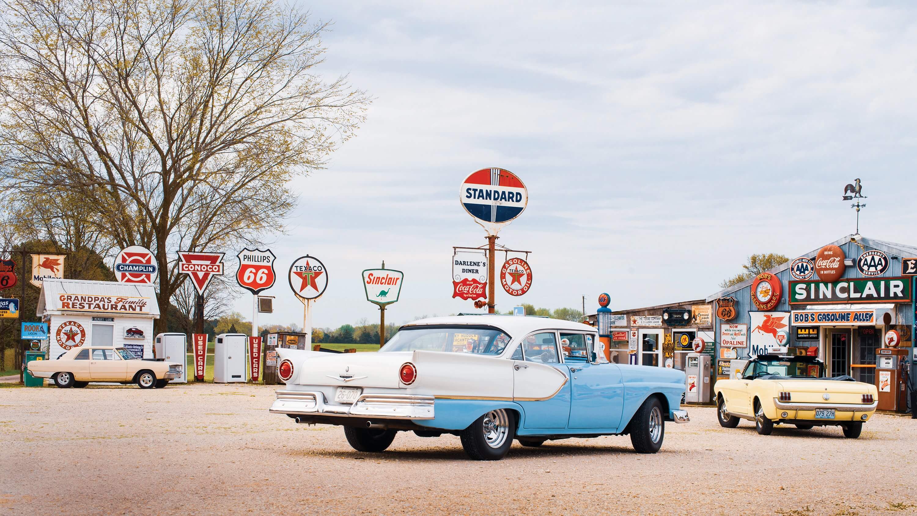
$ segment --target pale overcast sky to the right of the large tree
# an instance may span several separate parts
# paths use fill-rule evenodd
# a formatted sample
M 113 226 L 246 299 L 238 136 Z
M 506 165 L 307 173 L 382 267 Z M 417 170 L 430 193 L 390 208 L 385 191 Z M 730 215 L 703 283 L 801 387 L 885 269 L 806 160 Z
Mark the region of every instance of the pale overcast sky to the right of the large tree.
M 382 259 L 404 272 L 388 321 L 475 311 L 450 297 L 450 260 L 485 243 L 458 185 L 486 167 L 529 194 L 498 242 L 533 252 L 532 288 L 498 285 L 502 311 L 585 295 L 592 313 L 602 291 L 613 309 L 702 298 L 749 254 L 853 233 L 855 178 L 861 233 L 917 245 L 910 2 L 307 6 L 334 21 L 323 72 L 375 101 L 328 169 L 294 183 L 261 325 L 301 323 L 286 271 L 307 253 L 329 275 L 317 327 L 378 322 L 360 271 Z

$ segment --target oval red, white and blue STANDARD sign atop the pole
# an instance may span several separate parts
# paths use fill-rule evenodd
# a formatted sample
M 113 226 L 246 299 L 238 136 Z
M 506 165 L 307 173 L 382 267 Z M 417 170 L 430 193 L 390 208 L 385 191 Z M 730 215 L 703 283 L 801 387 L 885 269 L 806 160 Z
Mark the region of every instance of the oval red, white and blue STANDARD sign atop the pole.
M 462 181 L 458 199 L 480 223 L 505 224 L 525 210 L 528 191 L 509 170 L 481 169 Z

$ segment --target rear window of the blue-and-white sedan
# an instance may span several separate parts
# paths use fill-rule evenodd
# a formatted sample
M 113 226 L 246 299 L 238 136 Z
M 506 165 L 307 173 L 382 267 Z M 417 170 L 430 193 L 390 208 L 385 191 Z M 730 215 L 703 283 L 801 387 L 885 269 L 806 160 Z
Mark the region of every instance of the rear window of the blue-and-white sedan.
M 379 351 L 422 350 L 500 355 L 509 343 L 509 335 L 487 326 L 416 326 L 399 330 Z

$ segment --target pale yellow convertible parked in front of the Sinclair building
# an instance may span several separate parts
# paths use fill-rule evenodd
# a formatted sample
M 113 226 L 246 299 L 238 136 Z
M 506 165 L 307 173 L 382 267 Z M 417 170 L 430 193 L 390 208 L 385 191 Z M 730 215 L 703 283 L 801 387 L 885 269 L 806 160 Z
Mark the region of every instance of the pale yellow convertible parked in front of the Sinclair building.
M 721 379 L 713 393 L 726 428 L 735 428 L 739 419 L 754 421 L 761 435 L 769 435 L 775 423 L 801 430 L 834 425 L 851 439 L 876 412 L 878 396 L 875 385 L 849 376 L 824 378 L 824 362 L 816 357 L 778 355 L 749 360 L 741 379 Z

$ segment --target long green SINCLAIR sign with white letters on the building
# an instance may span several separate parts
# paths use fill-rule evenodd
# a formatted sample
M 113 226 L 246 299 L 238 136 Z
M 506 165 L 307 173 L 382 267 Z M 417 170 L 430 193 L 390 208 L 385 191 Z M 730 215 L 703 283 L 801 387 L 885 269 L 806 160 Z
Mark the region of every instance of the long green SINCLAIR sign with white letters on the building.
M 911 278 L 790 281 L 790 304 L 911 302 Z

